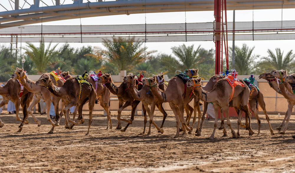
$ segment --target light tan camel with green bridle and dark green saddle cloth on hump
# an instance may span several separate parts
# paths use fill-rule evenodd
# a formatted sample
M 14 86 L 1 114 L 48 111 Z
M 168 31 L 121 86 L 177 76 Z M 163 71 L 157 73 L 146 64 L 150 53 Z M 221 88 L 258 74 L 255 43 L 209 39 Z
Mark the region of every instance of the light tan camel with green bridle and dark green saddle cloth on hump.
M 169 103 L 176 118 L 177 132 L 174 137 L 179 137 L 180 122 L 183 126 L 184 134 L 186 134 L 186 130 L 191 131 L 193 128 L 191 126 L 186 125 L 186 121 L 183 117 L 184 107 L 187 105 L 187 103 L 189 103 L 185 102 L 184 98 L 186 98 L 186 100 L 192 99 L 192 97 L 189 98 L 189 88 L 187 88 L 188 90 L 186 90 L 185 92 L 186 84 L 184 84 L 181 78 L 175 76 L 170 79 L 167 89 L 165 91 L 161 91 L 157 86 L 157 83 L 155 82 L 155 78 L 155 76 L 152 78 L 148 78 L 149 82 L 145 80 L 142 81 L 142 83 L 151 88 L 152 93 L 159 101 L 163 103 Z

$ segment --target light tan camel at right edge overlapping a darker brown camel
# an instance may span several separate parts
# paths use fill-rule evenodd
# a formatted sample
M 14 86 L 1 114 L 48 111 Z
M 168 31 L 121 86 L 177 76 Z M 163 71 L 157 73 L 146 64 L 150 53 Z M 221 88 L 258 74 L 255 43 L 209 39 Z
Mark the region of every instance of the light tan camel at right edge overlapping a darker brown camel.
M 281 135 L 286 133 L 288 123 L 290 121 L 291 112 L 292 112 L 293 107 L 295 105 L 295 95 L 292 92 L 291 85 L 288 83 L 288 82 L 290 82 L 293 84 L 294 83 L 294 82 L 292 82 L 293 78 L 288 77 L 288 82 L 286 82 L 286 75 L 287 75 L 287 70 L 280 70 L 280 71 L 275 70 L 273 72 L 273 76 L 278 78 L 278 80 L 280 82 L 278 84 L 278 87 L 281 90 L 282 95 L 284 96 L 284 98 L 286 98 L 288 100 L 288 115 L 286 117 L 286 125 L 283 128 L 283 131 L 280 132 Z

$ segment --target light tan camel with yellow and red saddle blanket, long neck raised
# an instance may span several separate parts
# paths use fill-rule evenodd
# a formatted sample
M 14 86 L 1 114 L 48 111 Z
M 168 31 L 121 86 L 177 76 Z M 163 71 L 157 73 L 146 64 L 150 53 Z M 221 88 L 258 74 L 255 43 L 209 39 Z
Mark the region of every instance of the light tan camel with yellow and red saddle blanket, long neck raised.
M 43 75 L 42 75 L 43 76 Z M 48 75 L 45 75 L 48 76 Z M 60 100 L 59 97 L 53 96 L 53 99 L 51 99 L 51 93 L 41 86 L 37 86 L 34 81 L 30 80 L 28 76 L 24 73 L 24 69 L 16 68 L 14 73 L 11 76 L 12 79 L 18 79 L 19 82 L 24 85 L 24 88 L 26 88 L 28 91 L 35 94 L 35 98 L 29 108 L 27 109 L 28 112 L 32 115 L 35 122 L 38 123 L 38 125 L 41 125 L 41 122 L 37 120 L 37 118 L 33 115 L 32 108 L 40 102 L 40 99 L 42 98 L 46 103 L 46 110 L 47 110 L 47 117 L 46 119 L 51 123 L 53 126 L 52 129 L 48 133 L 53 133 L 53 129 L 55 126 L 55 123 L 50 119 L 50 103 L 52 102 L 53 105 L 55 105 L 55 113 L 58 115 L 58 102 Z M 55 116 L 56 116 L 55 115 Z M 55 120 L 57 120 L 57 117 L 55 117 Z

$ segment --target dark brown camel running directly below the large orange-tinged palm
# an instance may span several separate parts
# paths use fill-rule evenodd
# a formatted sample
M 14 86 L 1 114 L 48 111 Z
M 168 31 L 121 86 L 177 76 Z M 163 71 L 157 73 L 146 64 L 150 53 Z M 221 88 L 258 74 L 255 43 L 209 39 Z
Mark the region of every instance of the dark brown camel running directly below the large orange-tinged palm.
M 132 121 L 134 120 L 135 110 L 136 110 L 137 105 L 140 103 L 140 100 L 135 100 L 131 96 L 130 89 L 129 89 L 130 85 L 128 86 L 127 83 L 122 82 L 121 85 L 116 86 L 114 84 L 110 74 L 104 73 L 103 75 L 101 75 L 98 78 L 97 83 L 104 84 L 106 86 L 106 88 L 108 88 L 111 93 L 118 96 L 119 109 L 118 109 L 118 116 L 117 116 L 118 125 L 117 125 L 116 129 L 120 130 L 122 128 L 121 121 L 125 121 L 128 124 L 126 125 L 126 127 L 124 127 L 124 129 L 121 130 L 121 132 L 125 132 L 127 127 L 130 124 L 132 124 Z M 141 88 L 142 88 L 142 85 L 138 85 L 138 90 L 140 90 Z M 121 118 L 121 112 L 123 109 L 127 108 L 128 106 L 131 106 L 132 110 L 131 110 L 130 119 L 126 120 L 126 119 Z M 144 106 L 142 107 L 142 109 L 143 108 L 144 108 Z M 145 109 L 143 109 L 143 113 L 144 113 L 144 116 L 146 116 Z

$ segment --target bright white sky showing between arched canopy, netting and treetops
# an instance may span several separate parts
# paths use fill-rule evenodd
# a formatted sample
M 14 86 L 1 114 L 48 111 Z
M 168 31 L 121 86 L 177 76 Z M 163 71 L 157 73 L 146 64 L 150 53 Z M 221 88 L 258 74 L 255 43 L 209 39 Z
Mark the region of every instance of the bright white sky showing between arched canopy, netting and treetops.
M 46 1 L 46 0 L 45 0 Z M 40 2 L 42 5 L 42 2 Z M 235 21 L 281 21 L 295 20 L 295 9 L 268 9 L 268 10 L 238 10 L 235 11 Z M 185 17 L 186 16 L 186 17 Z M 147 24 L 152 23 L 198 23 L 214 21 L 213 11 L 194 11 L 194 12 L 170 12 L 170 13 L 150 13 L 150 14 L 130 14 L 116 16 L 99 16 L 91 18 L 82 18 L 82 25 L 119 25 L 119 24 Z M 233 11 L 227 11 L 227 21 L 233 21 Z M 64 21 L 46 22 L 43 25 L 79 25 L 80 19 L 71 19 Z M 35 24 L 40 25 L 40 24 Z M 255 55 L 267 56 L 267 50 L 275 52 L 275 48 L 281 48 L 285 53 L 293 50 L 295 40 L 267 40 L 267 41 L 235 41 L 235 45 L 241 47 L 245 43 L 250 47 L 255 46 L 253 53 Z M 103 47 L 101 43 L 69 43 L 70 46 L 79 48 L 82 46 Z M 144 43 L 148 50 L 157 50 L 157 53 L 172 54 L 171 47 L 185 44 L 187 46 L 194 44 L 195 48 L 201 45 L 205 49 L 215 49 L 213 41 L 194 41 L 194 42 L 154 42 Z M 232 46 L 232 41 L 228 42 Z M 60 43 L 58 46 L 63 45 Z M 295 50 L 294 50 L 295 52 Z

